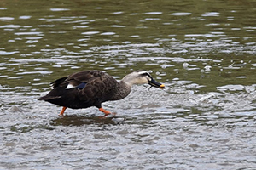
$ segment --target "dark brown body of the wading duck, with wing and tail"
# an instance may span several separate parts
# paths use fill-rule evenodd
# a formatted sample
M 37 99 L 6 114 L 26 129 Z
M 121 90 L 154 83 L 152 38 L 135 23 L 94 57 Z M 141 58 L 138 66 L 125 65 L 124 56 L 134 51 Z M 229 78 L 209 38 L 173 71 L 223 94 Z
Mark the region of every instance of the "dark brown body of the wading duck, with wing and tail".
M 119 87 L 113 77 L 102 71 L 79 71 L 51 83 L 53 89 L 39 100 L 73 109 L 100 107 Z

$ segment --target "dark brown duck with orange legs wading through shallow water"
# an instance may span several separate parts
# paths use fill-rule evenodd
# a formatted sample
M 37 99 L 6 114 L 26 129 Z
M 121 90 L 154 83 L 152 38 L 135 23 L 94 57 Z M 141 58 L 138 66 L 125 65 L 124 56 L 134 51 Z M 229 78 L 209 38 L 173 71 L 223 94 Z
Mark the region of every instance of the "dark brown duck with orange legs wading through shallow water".
M 131 93 L 135 84 L 149 84 L 152 88 L 164 89 L 165 85 L 156 82 L 148 71 L 133 71 L 118 81 L 103 71 L 79 71 L 67 77 L 61 77 L 50 83 L 51 90 L 38 100 L 62 106 L 59 116 L 67 108 L 83 109 L 96 106 L 105 116 L 113 114 L 102 108 L 102 103 L 124 99 Z

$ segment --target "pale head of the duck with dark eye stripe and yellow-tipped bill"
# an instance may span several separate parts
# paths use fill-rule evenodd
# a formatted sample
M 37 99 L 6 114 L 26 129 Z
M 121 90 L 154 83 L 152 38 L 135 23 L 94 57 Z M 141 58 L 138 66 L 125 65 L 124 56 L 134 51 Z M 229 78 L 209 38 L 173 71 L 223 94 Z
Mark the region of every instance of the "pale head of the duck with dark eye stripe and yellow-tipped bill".
M 154 78 L 151 77 L 151 75 L 148 73 L 148 71 L 131 72 L 123 78 L 123 81 L 130 86 L 132 86 L 133 84 L 149 84 L 151 87 L 154 88 L 165 88 L 165 85 L 160 82 L 156 82 Z

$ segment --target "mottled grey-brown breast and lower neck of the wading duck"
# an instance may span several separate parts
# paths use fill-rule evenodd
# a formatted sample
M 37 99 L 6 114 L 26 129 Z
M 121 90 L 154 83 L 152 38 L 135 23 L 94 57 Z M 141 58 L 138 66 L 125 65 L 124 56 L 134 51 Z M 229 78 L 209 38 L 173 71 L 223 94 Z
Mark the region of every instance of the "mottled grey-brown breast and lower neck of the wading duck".
M 116 89 L 116 91 L 113 93 L 113 97 L 111 100 L 119 100 L 124 99 L 128 94 L 131 92 L 131 85 L 124 82 L 124 80 L 121 80 L 119 82 L 119 88 Z

